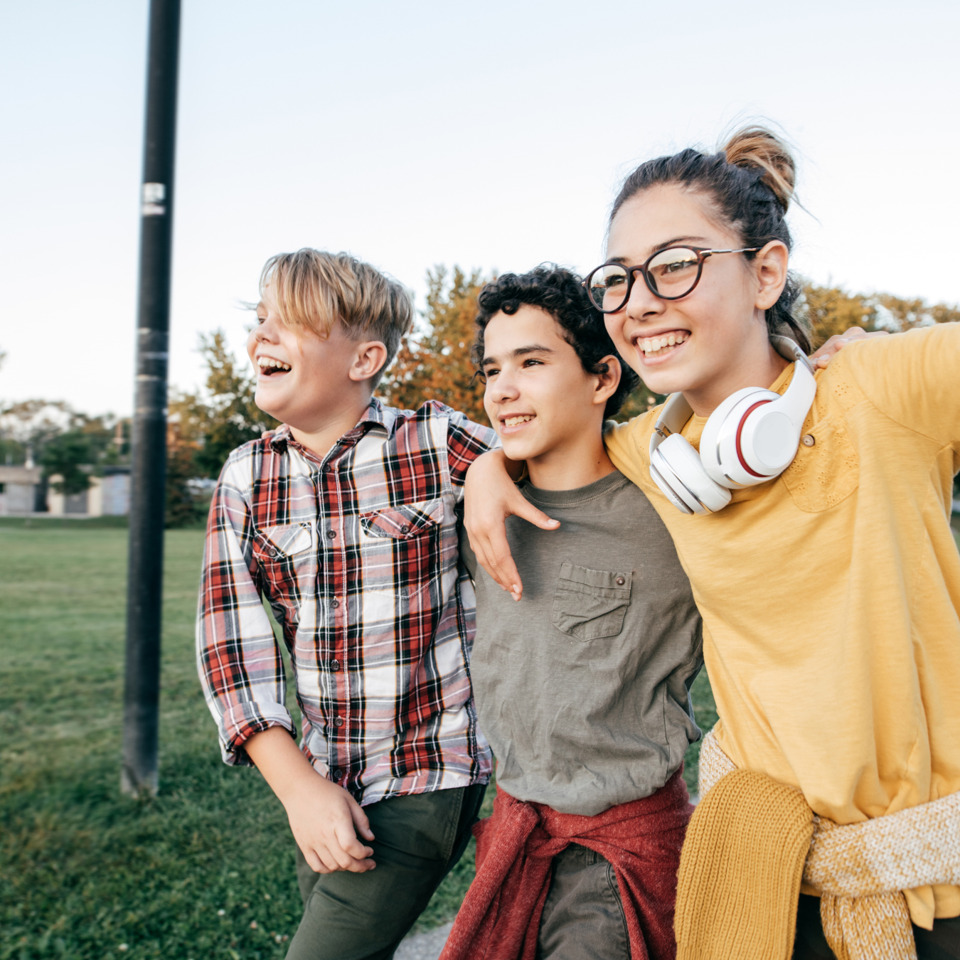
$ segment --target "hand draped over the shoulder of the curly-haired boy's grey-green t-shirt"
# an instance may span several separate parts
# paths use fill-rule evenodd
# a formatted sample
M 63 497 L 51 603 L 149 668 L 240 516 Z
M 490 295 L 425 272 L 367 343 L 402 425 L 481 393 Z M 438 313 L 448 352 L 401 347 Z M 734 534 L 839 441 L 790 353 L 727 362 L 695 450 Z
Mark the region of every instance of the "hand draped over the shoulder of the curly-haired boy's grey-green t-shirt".
M 464 526 L 477 563 L 519 600 L 523 584 L 510 553 L 504 520 L 519 516 L 542 530 L 556 530 L 560 521 L 550 519 L 516 489 L 506 465 L 503 450 L 491 450 L 470 465 L 464 485 Z

